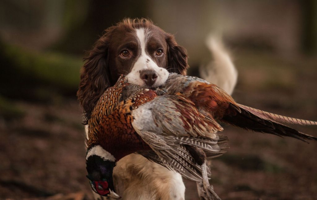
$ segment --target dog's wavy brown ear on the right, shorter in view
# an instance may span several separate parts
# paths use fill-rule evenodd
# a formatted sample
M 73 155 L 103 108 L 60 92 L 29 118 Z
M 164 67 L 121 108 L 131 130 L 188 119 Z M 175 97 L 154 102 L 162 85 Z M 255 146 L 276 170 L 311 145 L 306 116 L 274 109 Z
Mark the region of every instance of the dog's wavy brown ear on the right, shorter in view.
M 187 64 L 187 50 L 184 47 L 178 46 L 175 38 L 171 34 L 166 34 L 166 43 L 168 45 L 168 68 L 169 72 L 176 72 L 178 74 L 186 75 Z

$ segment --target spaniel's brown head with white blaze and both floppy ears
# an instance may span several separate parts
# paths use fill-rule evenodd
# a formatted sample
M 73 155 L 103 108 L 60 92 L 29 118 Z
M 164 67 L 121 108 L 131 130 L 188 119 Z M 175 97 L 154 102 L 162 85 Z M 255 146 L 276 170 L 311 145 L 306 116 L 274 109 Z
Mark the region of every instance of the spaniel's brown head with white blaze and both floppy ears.
M 77 96 L 85 123 L 99 97 L 121 74 L 129 83 L 152 88 L 163 84 L 169 72 L 185 75 L 188 68 L 186 49 L 146 19 L 125 19 L 106 29 L 84 60 Z

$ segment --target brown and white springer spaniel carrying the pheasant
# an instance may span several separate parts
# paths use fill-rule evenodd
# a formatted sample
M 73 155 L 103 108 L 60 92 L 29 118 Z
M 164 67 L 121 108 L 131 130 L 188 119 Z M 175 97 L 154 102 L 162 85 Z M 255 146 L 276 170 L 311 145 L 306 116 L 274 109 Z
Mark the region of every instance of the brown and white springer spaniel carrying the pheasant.
M 217 51 L 214 55 L 220 59 L 216 60 L 221 66 L 217 72 L 221 73 L 226 66 L 234 69 L 228 54 L 219 47 L 214 45 L 210 49 Z M 108 28 L 84 60 L 77 96 L 84 109 L 86 125 L 99 97 L 121 74 L 126 75 L 130 83 L 152 88 L 163 84 L 169 72 L 185 75 L 188 68 L 186 49 L 178 46 L 173 35 L 146 19 L 125 19 Z M 236 75 L 228 76 L 236 78 Z M 113 180 L 116 192 L 125 200 L 184 199 L 185 186 L 180 174 L 137 154 L 117 162 Z M 103 199 L 94 195 L 96 199 Z

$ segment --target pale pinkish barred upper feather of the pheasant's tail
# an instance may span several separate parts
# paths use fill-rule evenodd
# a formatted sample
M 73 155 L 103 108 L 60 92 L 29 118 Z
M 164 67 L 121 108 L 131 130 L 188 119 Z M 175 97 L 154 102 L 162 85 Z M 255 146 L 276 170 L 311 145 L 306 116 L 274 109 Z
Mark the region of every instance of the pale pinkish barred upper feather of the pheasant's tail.
M 299 125 L 317 125 L 317 122 L 309 121 L 309 120 L 303 120 L 303 119 L 296 119 L 292 117 L 277 115 L 274 113 L 269 113 L 263 110 L 251 108 L 249 106 L 245 106 L 242 104 L 237 104 L 240 108 L 243 108 L 245 110 L 248 110 L 250 113 L 259 116 L 263 119 L 271 120 L 276 123 L 286 123 L 286 124 L 299 124 Z

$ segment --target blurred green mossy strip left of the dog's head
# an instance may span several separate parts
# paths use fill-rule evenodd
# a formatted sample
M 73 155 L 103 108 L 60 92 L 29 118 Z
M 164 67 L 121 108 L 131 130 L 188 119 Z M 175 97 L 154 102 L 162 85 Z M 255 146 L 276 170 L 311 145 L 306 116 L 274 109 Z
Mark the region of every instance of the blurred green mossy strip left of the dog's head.
M 3 47 L 3 56 L 11 61 L 16 73 L 66 89 L 78 87 L 81 59 L 57 53 L 36 53 L 9 45 Z

